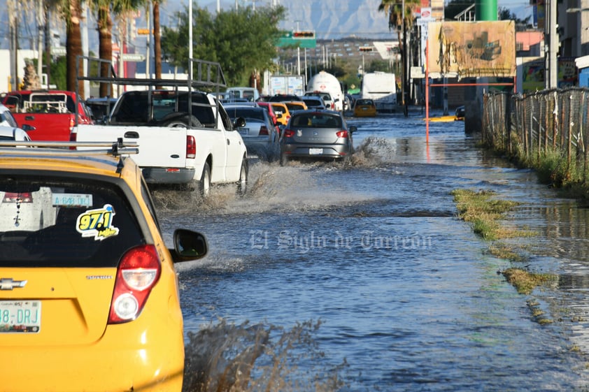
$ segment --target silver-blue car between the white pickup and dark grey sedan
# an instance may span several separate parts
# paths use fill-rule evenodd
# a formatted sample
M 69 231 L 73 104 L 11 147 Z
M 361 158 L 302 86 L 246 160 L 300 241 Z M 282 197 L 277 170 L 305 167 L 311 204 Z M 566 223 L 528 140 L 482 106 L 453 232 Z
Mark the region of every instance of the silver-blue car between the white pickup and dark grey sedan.
M 268 115 L 268 110 L 260 106 L 225 105 L 227 115 L 236 123 L 244 119 L 245 124 L 238 126 L 237 131 L 249 152 L 262 159 L 270 159 L 274 153 L 273 145 L 278 143 L 278 133 Z

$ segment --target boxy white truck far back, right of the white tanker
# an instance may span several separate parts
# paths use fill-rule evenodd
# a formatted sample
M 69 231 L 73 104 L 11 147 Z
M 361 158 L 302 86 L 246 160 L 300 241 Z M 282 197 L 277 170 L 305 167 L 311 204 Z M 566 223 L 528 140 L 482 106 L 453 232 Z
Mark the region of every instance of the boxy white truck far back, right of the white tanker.
M 372 99 L 379 112 L 394 112 L 397 108 L 395 74 L 381 71 L 364 73 L 360 96 Z

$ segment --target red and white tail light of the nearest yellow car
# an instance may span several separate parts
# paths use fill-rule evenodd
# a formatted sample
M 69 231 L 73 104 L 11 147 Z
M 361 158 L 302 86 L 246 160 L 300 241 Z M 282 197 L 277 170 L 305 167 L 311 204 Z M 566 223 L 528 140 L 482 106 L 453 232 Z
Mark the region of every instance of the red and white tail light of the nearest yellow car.
M 108 324 L 126 323 L 139 317 L 161 273 L 154 245 L 129 249 L 117 270 Z

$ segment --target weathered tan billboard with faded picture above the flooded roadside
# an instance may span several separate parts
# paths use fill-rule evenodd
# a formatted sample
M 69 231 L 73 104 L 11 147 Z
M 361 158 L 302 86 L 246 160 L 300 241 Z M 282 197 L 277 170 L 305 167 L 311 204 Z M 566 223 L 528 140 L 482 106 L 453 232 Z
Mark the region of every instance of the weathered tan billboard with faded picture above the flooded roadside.
M 427 66 L 432 74 L 458 78 L 516 75 L 513 20 L 430 22 Z

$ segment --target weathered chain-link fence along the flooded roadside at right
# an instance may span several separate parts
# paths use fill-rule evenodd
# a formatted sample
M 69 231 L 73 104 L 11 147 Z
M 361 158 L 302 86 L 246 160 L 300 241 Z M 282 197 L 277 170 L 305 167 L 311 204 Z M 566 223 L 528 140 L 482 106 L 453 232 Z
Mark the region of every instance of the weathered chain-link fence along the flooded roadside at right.
M 485 94 L 483 142 L 521 160 L 557 152 L 567 170 L 583 168 L 588 180 L 589 89 L 543 90 L 533 94 Z

